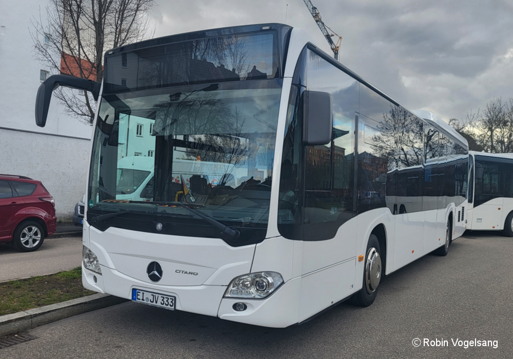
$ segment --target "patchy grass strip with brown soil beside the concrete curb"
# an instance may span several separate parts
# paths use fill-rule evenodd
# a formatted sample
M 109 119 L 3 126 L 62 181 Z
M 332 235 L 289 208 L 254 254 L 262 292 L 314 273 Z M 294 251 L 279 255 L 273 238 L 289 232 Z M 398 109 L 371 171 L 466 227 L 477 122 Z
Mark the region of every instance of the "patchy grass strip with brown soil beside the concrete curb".
M 82 286 L 82 268 L 0 283 L 0 315 L 94 294 Z

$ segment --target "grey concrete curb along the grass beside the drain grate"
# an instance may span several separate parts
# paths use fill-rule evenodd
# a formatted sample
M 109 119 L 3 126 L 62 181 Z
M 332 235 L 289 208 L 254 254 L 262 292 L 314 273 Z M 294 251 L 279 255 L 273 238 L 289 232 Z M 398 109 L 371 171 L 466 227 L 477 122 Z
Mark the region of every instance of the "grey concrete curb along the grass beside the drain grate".
M 0 337 L 128 301 L 109 294 L 93 294 L 62 303 L 0 316 Z

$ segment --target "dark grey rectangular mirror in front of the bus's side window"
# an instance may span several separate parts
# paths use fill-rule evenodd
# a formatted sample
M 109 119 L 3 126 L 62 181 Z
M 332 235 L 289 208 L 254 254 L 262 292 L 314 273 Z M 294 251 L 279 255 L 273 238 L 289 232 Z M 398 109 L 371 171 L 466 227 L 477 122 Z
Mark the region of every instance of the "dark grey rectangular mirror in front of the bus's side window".
M 331 94 L 320 91 L 303 92 L 303 144 L 327 145 L 333 129 Z

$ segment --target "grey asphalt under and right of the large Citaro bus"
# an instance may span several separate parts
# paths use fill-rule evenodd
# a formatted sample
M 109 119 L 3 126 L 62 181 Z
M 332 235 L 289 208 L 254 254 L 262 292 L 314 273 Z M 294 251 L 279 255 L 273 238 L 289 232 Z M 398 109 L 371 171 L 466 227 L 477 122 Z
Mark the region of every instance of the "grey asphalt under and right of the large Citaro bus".
M 510 358 L 513 239 L 470 233 L 384 278 L 368 308 L 341 304 L 301 326 L 269 329 L 127 302 L 29 331 L 8 358 Z M 414 338 L 447 340 L 413 347 Z M 492 340 L 464 347 L 452 340 Z M 463 344 L 463 343 L 462 343 Z

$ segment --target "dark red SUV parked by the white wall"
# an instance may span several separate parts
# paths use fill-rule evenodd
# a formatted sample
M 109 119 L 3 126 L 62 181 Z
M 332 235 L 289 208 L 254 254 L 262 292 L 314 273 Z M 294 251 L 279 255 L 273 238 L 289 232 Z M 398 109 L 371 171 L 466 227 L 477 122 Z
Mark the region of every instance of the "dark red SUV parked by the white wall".
M 40 181 L 0 174 L 0 243 L 32 252 L 55 232 L 55 201 Z

